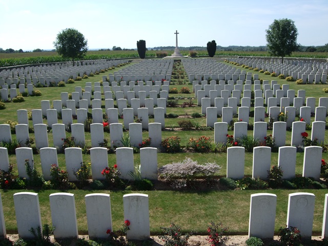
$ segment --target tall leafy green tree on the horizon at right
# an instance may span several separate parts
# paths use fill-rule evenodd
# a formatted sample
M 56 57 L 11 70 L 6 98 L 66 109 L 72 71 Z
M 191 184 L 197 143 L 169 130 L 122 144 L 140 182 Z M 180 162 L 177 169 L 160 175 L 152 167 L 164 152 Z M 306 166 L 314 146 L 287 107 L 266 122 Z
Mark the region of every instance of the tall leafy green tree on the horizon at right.
M 267 46 L 269 54 L 283 57 L 291 55 L 299 47 L 297 44 L 297 28 L 291 19 L 275 19 L 267 30 Z

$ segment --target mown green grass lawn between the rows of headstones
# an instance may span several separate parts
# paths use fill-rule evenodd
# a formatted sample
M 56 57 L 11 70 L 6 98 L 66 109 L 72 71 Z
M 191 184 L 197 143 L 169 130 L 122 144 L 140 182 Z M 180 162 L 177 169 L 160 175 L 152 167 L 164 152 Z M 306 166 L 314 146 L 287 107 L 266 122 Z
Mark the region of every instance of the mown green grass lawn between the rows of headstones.
M 140 59 L 136 59 L 134 62 L 139 62 Z M 60 92 L 74 92 L 76 86 L 85 87 L 86 82 L 92 82 L 101 80 L 103 75 L 108 75 L 114 71 L 119 71 L 122 68 L 131 66 L 132 64 L 126 65 L 121 68 L 116 68 L 113 71 L 108 71 L 105 74 L 101 73 L 95 75 L 94 77 L 89 77 L 88 79 L 83 79 L 82 81 L 76 81 L 75 84 L 68 84 L 66 87 L 53 87 L 53 88 L 35 88 L 42 92 L 42 96 L 38 97 L 25 97 L 24 103 L 6 103 L 6 109 L 0 111 L 0 124 L 4 124 L 7 120 L 17 121 L 16 110 L 26 109 L 31 111 L 32 109 L 41 108 L 41 100 L 50 100 L 52 104 L 53 100 L 60 99 Z M 229 64 L 232 67 L 237 67 Z M 243 69 L 240 66 L 237 68 Z M 252 70 L 249 70 L 252 71 Z M 253 71 L 252 71 L 253 72 Z M 254 73 L 254 72 L 253 72 Z M 278 79 L 278 77 L 271 77 L 270 75 L 264 75 L 262 73 L 256 72 L 259 74 L 259 78 L 265 80 L 277 80 L 278 84 L 289 84 L 290 89 L 294 90 L 306 90 L 306 97 L 316 97 L 316 105 L 318 106 L 319 97 L 325 97 L 326 94 L 322 91 L 323 88 L 328 87 L 327 85 L 296 85 L 295 82 L 287 82 L 285 79 Z M 214 139 L 213 130 L 181 130 L 177 129 L 179 124 L 178 121 L 181 120 L 181 116 L 190 117 L 194 112 L 201 113 L 201 108 L 197 106 L 197 100 L 194 99 L 194 94 L 192 93 L 192 85 L 188 84 L 188 80 L 184 79 L 178 84 L 177 81 L 174 81 L 175 85 L 171 85 L 170 88 L 176 87 L 178 91 L 182 87 L 188 87 L 191 91 L 190 94 L 169 94 L 170 97 L 175 97 L 178 99 L 178 107 L 168 107 L 167 114 L 175 113 L 178 114 L 179 118 L 166 118 L 166 130 L 162 131 L 162 139 L 170 136 L 179 136 L 181 138 L 181 145 L 186 146 L 188 140 L 191 137 L 198 138 L 200 136 L 210 137 L 211 140 Z M 296 93 L 297 94 L 297 93 Z M 192 100 L 192 107 L 184 107 L 181 105 L 183 102 L 189 102 Z M 105 101 L 102 101 L 102 105 L 105 106 Z M 253 108 L 251 109 L 253 110 Z M 105 109 L 103 109 L 105 112 Z M 91 110 L 89 110 L 91 112 Z M 237 118 L 234 118 L 237 119 Z M 206 126 L 206 118 L 190 118 L 197 122 L 197 125 L 200 127 Z M 268 121 L 268 118 L 265 118 Z M 221 121 L 221 118 L 218 118 L 218 121 Z M 314 121 L 314 117 L 312 117 Z M 58 120 L 60 123 L 61 120 Z M 76 122 L 76 120 L 74 121 Z M 119 119 L 119 122 L 123 122 L 122 119 Z M 150 119 L 149 122 L 154 122 L 154 119 Z M 250 122 L 253 123 L 253 118 L 250 117 Z M 47 124 L 47 120 L 44 119 L 44 124 Z M 32 126 L 32 120 L 29 121 L 29 125 Z M 311 130 L 307 131 L 309 135 Z M 228 132 L 230 135 L 233 135 L 233 131 Z M 268 130 L 268 134 L 271 134 L 272 131 Z M 127 134 L 127 133 L 125 133 Z M 253 131 L 248 131 L 249 135 L 253 134 Z M 15 137 L 15 134 L 12 134 Z M 70 133 L 67 133 L 67 137 L 70 136 Z M 90 133 L 86 132 L 86 145 L 91 146 L 91 137 Z M 34 134 L 30 133 L 30 137 L 34 138 Z M 143 137 L 148 137 L 148 132 L 143 132 Z M 109 139 L 110 134 L 105 133 L 105 138 Z M 328 139 L 328 132 L 325 132 L 325 139 Z M 52 147 L 52 133 L 48 133 L 49 147 Z M 286 145 L 291 144 L 291 132 L 286 132 Z M 158 167 L 166 165 L 175 161 L 182 161 L 185 157 L 190 157 L 194 160 L 197 160 L 199 163 L 204 162 L 216 162 L 222 167 L 218 176 L 226 176 L 227 172 L 227 153 L 176 153 L 176 154 L 167 154 L 167 153 L 158 153 Z M 322 154 L 324 159 L 328 159 L 328 153 Z M 9 156 L 10 163 L 16 162 L 15 155 Z M 83 155 L 83 159 L 86 162 L 90 162 L 90 155 Z M 108 155 L 109 165 L 112 166 L 116 162 L 115 154 Z M 252 176 L 252 153 L 245 154 L 245 176 Z M 139 154 L 134 154 L 135 163 L 140 163 Z M 271 155 L 271 164 L 277 165 L 278 153 L 272 153 Z M 302 174 L 303 168 L 303 153 L 297 153 L 297 165 L 296 165 L 296 174 Z M 39 172 L 41 172 L 40 167 L 40 157 L 38 154 L 34 155 L 34 162 Z M 65 169 L 65 155 L 58 154 L 59 167 Z M 17 174 L 17 167 L 14 167 L 14 170 Z M 60 192 L 59 190 L 45 190 L 45 191 L 33 191 L 37 192 L 40 201 L 40 209 L 42 213 L 42 222 L 51 223 L 50 215 L 50 204 L 49 204 L 49 195 L 51 193 Z M 7 233 L 16 233 L 16 221 L 13 211 L 13 194 L 16 192 L 22 192 L 22 190 L 1 190 L 3 208 L 5 213 L 5 221 Z M 69 190 L 67 192 L 73 193 L 75 195 L 75 205 L 77 211 L 77 220 L 78 220 L 78 230 L 79 234 L 87 234 L 87 220 L 86 220 L 86 208 L 84 197 L 89 193 L 108 193 L 111 194 L 111 208 L 112 208 L 112 218 L 114 229 L 118 229 L 123 220 L 123 205 L 122 205 L 122 196 L 124 194 L 131 193 L 131 191 L 109 191 L 109 190 L 100 190 L 100 191 L 91 191 L 91 190 Z M 294 192 L 310 192 L 316 195 L 315 202 L 315 214 L 314 214 L 314 227 L 313 231 L 315 235 L 321 233 L 322 228 L 322 215 L 323 215 L 323 205 L 324 205 L 324 195 L 327 192 L 326 190 L 257 190 L 257 191 L 218 191 L 211 190 L 208 191 L 147 191 L 140 193 L 146 193 L 149 195 L 149 206 L 150 206 L 150 226 L 151 234 L 159 234 L 160 227 L 169 226 L 170 222 L 174 222 L 182 227 L 185 231 L 197 231 L 199 234 L 206 234 L 208 224 L 213 220 L 215 222 L 222 222 L 224 226 L 229 227 L 229 232 L 231 234 L 247 234 L 249 226 L 249 210 L 250 210 L 250 196 L 254 193 L 268 192 L 274 193 L 277 195 L 277 211 L 276 211 L 276 227 L 275 231 L 277 232 L 280 227 L 284 227 L 286 223 L 287 215 L 287 206 L 288 206 L 288 194 Z

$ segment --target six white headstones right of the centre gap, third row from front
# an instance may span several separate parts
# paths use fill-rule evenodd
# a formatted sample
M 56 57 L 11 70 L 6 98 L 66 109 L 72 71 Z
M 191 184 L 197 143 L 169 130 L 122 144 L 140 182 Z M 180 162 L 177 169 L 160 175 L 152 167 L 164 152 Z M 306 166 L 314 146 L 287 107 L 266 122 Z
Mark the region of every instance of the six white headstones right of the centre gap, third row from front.
M 291 146 L 300 147 L 304 146 L 304 138 L 302 133 L 305 132 L 306 123 L 304 121 L 294 121 L 292 125 L 292 137 Z M 247 122 L 239 121 L 234 123 L 234 140 L 246 136 L 248 134 Z M 258 139 L 261 142 L 265 141 L 267 137 L 267 122 L 255 122 L 253 130 L 253 138 Z M 286 145 L 286 129 L 287 123 L 284 121 L 276 121 L 273 123 L 272 137 L 275 140 L 277 147 L 283 147 Z M 215 122 L 214 123 L 214 142 L 216 144 L 226 144 L 228 134 L 228 123 L 227 122 Z M 314 121 L 312 122 L 311 139 L 317 141 L 318 144 L 324 143 L 325 135 L 325 121 Z

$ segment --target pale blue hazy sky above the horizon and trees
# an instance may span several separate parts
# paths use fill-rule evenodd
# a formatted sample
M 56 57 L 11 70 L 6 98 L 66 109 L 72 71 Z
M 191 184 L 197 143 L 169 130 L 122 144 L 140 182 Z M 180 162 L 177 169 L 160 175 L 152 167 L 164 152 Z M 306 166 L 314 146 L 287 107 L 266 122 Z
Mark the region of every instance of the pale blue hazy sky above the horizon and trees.
M 54 49 L 59 32 L 74 28 L 89 49 L 113 46 L 265 46 L 274 19 L 294 20 L 297 43 L 328 43 L 327 0 L 0 0 L 0 48 Z

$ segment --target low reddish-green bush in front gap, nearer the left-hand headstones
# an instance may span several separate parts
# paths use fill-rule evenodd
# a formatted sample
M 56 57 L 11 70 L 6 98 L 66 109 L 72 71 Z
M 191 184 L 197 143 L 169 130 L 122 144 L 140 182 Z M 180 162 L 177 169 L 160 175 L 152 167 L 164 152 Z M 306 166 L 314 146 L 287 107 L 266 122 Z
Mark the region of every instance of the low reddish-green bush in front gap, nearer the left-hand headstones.
M 188 239 L 193 234 L 191 232 L 182 235 L 181 228 L 173 222 L 171 222 L 170 227 L 161 227 L 160 230 L 164 234 L 159 236 L 165 242 L 164 246 L 188 246 Z

